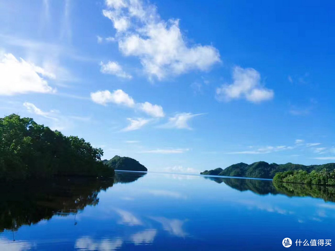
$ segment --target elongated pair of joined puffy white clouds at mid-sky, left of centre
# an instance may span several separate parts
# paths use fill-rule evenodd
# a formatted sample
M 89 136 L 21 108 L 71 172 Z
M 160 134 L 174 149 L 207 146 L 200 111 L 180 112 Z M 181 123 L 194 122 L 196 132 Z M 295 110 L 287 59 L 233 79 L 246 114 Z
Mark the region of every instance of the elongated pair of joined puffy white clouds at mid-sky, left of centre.
M 151 104 L 149 102 L 136 103 L 132 97 L 121 89 L 113 92 L 108 90 L 91 92 L 91 99 L 93 102 L 101 105 L 107 105 L 107 103 L 125 105 L 127 107 L 143 111 L 151 117 L 159 118 L 165 116 L 163 107 L 160 105 Z

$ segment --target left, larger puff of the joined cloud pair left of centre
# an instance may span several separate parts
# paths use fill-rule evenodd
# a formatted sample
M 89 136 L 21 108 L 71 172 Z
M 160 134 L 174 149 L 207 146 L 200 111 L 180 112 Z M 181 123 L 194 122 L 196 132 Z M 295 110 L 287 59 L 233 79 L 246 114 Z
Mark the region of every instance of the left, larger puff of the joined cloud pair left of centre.
M 93 102 L 106 105 L 107 103 L 122 104 L 128 107 L 134 107 L 135 101 L 123 90 L 115 90 L 112 93 L 109 90 L 91 92 Z

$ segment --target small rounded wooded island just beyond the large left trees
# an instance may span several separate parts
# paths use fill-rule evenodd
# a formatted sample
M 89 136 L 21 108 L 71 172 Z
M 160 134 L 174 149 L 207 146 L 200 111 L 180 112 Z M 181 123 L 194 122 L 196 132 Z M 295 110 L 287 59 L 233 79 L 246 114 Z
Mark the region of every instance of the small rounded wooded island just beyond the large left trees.
M 115 155 L 110 160 L 102 161 L 105 165 L 113 168 L 114 170 L 124 170 L 124 171 L 148 171 L 148 169 L 140 164 L 137 160 L 129 157 L 120 157 Z

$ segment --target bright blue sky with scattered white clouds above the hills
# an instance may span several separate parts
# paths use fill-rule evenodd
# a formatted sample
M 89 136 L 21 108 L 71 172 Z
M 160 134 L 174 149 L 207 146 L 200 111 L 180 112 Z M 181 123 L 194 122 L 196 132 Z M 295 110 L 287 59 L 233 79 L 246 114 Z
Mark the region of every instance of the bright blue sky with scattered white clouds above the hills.
M 0 2 L 0 115 L 153 171 L 335 160 L 332 1 Z

